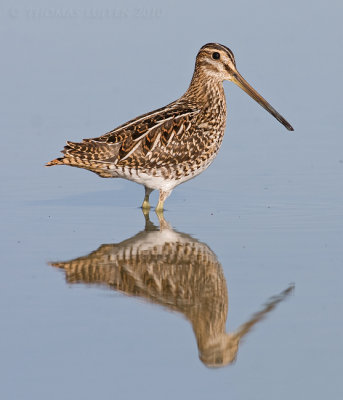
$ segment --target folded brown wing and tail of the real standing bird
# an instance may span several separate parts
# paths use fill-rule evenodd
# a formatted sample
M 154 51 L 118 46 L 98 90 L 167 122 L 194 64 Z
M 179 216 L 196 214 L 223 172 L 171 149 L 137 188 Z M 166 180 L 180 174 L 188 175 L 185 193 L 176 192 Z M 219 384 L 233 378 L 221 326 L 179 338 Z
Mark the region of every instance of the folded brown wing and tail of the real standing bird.
M 96 173 L 98 169 L 105 170 L 105 164 L 150 166 L 158 159 L 157 154 L 163 153 L 165 160 L 168 151 L 171 151 L 169 156 L 182 152 L 182 136 L 187 134 L 200 111 L 189 104 L 171 103 L 100 137 L 83 139 L 81 143 L 67 142 L 62 151 L 64 157 L 47 165 L 68 164 L 97 169 Z

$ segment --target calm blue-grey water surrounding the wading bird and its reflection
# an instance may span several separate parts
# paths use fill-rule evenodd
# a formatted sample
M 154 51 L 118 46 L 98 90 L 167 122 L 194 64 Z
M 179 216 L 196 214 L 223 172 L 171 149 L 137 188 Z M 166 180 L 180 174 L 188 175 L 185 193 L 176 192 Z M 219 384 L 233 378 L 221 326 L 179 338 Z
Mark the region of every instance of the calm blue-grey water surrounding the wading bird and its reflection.
M 339 0 L 1 2 L 1 399 L 342 398 L 342 17 Z M 225 83 L 221 152 L 166 203 L 223 266 L 229 331 L 295 283 L 219 370 L 179 315 L 47 265 L 141 230 L 143 190 L 43 167 L 182 95 L 207 42 L 295 128 Z

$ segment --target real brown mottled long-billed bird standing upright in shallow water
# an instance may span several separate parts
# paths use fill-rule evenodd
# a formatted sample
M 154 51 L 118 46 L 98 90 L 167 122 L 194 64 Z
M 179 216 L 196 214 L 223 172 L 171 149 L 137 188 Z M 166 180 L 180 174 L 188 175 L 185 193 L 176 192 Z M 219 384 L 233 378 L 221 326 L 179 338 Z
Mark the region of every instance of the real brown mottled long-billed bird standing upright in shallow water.
M 199 50 L 186 92 L 165 107 L 140 115 L 102 136 L 67 141 L 63 157 L 46 164 L 83 168 L 103 178 L 124 178 L 145 188 L 143 211 L 149 196 L 159 190 L 157 213 L 172 190 L 203 172 L 213 162 L 226 127 L 223 81 L 232 81 L 264 107 L 289 131 L 293 127 L 236 68 L 233 52 L 219 43 Z

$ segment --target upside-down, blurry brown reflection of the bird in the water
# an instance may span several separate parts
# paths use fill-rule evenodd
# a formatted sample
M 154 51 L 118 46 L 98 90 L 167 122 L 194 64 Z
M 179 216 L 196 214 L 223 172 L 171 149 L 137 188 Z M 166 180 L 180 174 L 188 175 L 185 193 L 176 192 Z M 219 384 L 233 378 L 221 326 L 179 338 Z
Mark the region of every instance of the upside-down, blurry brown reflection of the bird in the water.
M 70 261 L 52 262 L 68 283 L 105 285 L 183 314 L 192 324 L 199 357 L 222 367 L 237 356 L 241 339 L 292 291 L 271 297 L 235 332 L 225 329 L 228 291 L 214 252 L 202 242 L 173 230 L 159 215 L 156 227 L 145 215 L 145 229 L 120 243 L 103 244 Z

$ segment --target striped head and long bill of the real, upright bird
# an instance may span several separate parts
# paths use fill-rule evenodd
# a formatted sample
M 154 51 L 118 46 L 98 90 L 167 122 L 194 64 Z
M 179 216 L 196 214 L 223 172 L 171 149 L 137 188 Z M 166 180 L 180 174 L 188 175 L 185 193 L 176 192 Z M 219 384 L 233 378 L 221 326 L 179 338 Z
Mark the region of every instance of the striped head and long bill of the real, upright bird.
M 232 51 L 222 44 L 207 43 L 197 55 L 196 70 L 208 79 L 216 81 L 232 81 L 251 96 L 257 103 L 272 114 L 289 131 L 292 126 L 265 100 L 237 71 L 236 61 Z

